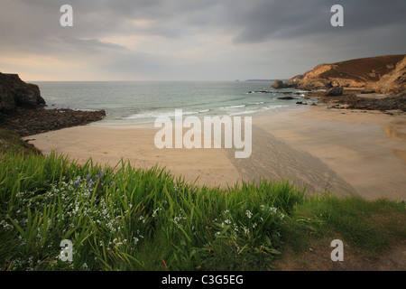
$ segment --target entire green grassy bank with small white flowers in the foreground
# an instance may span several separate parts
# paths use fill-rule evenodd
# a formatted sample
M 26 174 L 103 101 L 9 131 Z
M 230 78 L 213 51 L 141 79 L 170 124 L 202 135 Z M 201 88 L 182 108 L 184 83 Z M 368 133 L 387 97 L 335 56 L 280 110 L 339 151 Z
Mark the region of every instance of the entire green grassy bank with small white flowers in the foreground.
M 309 198 L 290 182 L 222 190 L 158 167 L 12 150 L 0 159 L 0 269 L 269 270 L 284 247 L 329 236 L 380 252 L 405 238 L 405 213 L 404 202 Z M 63 239 L 73 262 L 59 258 Z

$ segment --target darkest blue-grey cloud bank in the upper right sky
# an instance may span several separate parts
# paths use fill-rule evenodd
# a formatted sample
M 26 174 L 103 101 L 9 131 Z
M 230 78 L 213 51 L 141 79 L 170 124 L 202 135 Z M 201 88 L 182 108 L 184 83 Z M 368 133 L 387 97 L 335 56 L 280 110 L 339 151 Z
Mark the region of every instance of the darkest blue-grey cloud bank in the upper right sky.
M 353 33 L 391 25 L 406 27 L 406 2 L 402 0 L 276 0 L 254 3 L 255 5 L 235 7 L 232 9 L 233 13 L 227 17 L 227 25 L 232 23 L 242 29 L 235 35 L 235 42 L 263 42 L 275 38 L 286 39 L 335 32 Z M 345 25 L 340 30 L 329 24 L 333 15 L 330 8 L 335 4 L 342 5 L 345 11 Z

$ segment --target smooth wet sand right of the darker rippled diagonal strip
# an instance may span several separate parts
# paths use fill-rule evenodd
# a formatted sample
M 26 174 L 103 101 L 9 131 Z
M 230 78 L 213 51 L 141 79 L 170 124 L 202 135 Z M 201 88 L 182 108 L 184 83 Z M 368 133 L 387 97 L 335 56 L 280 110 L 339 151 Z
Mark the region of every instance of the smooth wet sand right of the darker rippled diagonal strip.
M 406 199 L 406 116 L 382 112 L 314 107 L 291 117 L 260 124 L 297 149 L 317 158 L 335 178 L 326 174 L 330 191 L 342 194 L 334 181 L 345 180 L 353 194 L 366 200 Z

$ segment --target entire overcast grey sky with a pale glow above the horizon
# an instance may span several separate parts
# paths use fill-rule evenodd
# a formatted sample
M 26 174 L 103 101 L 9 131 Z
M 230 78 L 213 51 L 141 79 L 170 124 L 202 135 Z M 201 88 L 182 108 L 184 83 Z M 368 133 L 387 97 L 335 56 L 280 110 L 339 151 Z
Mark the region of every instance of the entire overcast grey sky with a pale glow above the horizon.
M 344 26 L 330 23 L 342 5 Z M 60 25 L 62 5 L 72 27 Z M 0 0 L 0 72 L 24 81 L 290 79 L 404 54 L 404 0 Z

